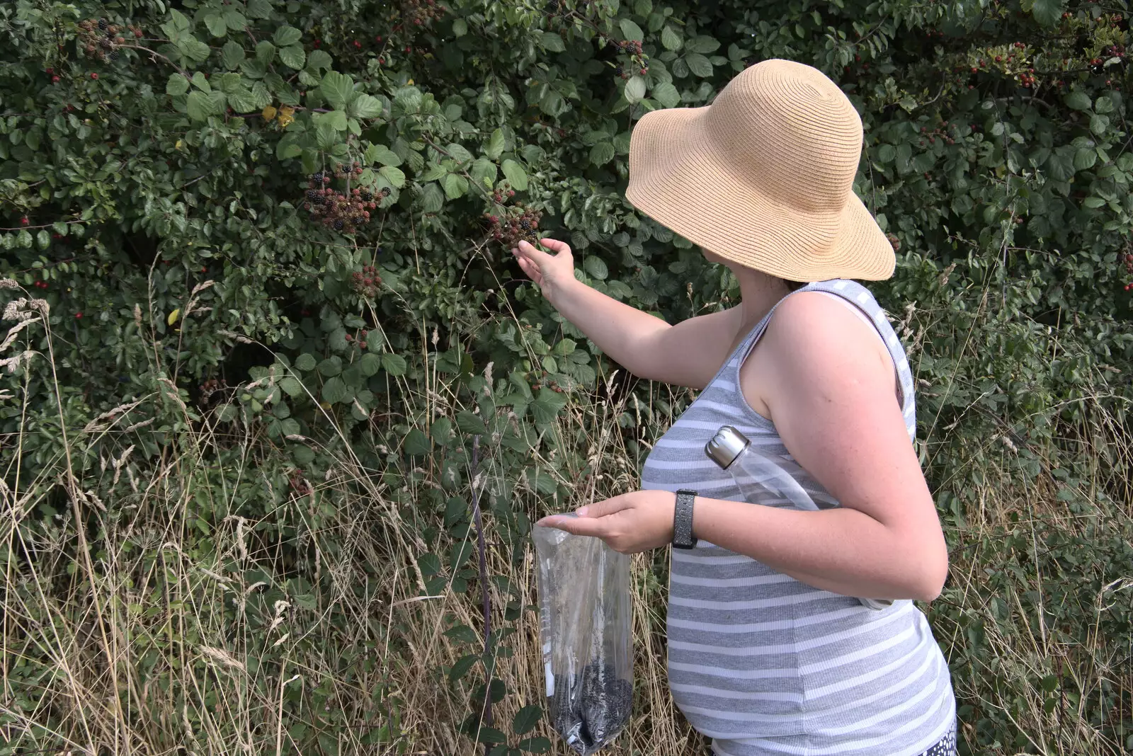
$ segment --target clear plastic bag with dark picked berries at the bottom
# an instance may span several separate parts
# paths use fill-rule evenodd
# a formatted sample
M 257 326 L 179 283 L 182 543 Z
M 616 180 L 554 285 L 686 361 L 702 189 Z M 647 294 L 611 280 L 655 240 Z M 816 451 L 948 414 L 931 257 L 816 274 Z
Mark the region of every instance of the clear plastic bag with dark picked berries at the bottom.
M 551 723 L 589 756 L 630 719 L 630 559 L 604 541 L 533 529 L 538 560 L 539 642 Z

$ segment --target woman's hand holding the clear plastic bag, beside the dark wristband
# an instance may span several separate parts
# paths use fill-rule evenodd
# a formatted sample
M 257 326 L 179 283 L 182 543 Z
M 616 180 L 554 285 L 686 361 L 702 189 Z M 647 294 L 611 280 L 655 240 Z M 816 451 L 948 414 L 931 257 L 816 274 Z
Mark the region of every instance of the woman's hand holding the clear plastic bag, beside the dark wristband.
M 600 538 L 614 551 L 637 553 L 673 540 L 676 496 L 670 491 L 633 491 L 576 510 L 577 517 L 551 515 L 536 525 L 576 535 Z

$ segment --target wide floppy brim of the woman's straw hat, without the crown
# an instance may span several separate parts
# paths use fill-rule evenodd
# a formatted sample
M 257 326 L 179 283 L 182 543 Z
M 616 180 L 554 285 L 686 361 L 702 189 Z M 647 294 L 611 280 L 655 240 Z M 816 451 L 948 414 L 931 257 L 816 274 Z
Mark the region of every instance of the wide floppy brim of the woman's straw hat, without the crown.
M 715 255 L 789 281 L 893 275 L 896 256 L 853 191 L 838 212 L 808 212 L 742 178 L 706 126 L 704 108 L 647 113 L 630 138 L 625 197 L 639 211 Z

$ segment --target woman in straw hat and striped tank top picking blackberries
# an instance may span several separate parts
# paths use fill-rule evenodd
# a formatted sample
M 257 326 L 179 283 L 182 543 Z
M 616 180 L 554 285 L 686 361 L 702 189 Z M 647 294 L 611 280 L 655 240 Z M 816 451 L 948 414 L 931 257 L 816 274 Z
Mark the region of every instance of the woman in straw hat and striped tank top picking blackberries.
M 723 312 L 671 326 L 578 282 L 563 242 L 513 250 L 612 359 L 701 389 L 649 454 L 642 490 L 540 524 L 623 552 L 682 547 L 670 687 L 724 756 L 955 753 L 947 664 L 913 604 L 939 595 L 948 568 L 911 444 L 913 381 L 881 309 L 851 281 L 895 264 L 853 194 L 861 144 L 841 89 L 782 60 L 747 69 L 707 108 L 640 120 L 627 197 L 735 274 L 742 303 Z M 804 487 L 841 507 L 743 501 L 704 453 L 722 424 L 790 455 Z M 852 596 L 894 601 L 878 611 Z

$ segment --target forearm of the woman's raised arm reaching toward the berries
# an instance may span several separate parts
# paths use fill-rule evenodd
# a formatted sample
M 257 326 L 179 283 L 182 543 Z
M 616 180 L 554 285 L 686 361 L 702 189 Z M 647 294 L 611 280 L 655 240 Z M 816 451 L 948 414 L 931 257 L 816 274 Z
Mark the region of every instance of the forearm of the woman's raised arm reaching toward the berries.
M 672 326 L 587 286 L 581 281 L 555 285 L 551 303 L 612 360 L 641 378 L 654 378 L 651 338 Z

